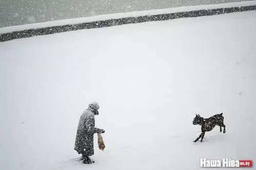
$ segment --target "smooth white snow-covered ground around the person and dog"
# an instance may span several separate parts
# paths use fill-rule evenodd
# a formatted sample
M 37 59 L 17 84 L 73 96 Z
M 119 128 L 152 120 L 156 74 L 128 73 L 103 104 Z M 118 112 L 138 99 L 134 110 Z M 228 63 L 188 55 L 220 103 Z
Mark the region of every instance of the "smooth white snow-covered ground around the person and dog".
M 0 44 L 0 169 L 200 169 L 256 161 L 256 11 L 80 30 Z M 104 152 L 70 160 L 100 104 Z M 203 117 L 219 127 L 193 143 Z M 255 166 L 253 167 L 255 168 Z M 253 169 L 252 168 L 252 169 Z

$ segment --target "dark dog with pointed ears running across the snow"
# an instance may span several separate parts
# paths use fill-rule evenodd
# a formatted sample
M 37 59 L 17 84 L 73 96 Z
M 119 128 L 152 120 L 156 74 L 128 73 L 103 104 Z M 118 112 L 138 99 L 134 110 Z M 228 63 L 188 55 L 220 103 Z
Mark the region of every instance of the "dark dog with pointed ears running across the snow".
M 201 135 L 196 138 L 193 142 L 197 142 L 200 138 L 201 138 L 201 142 L 203 141 L 204 139 L 204 135 L 205 135 L 205 132 L 209 132 L 211 130 L 213 130 L 213 128 L 215 127 L 215 125 L 219 125 L 220 126 L 220 132 L 222 132 L 222 129 L 221 127 L 224 128 L 224 131 L 223 133 L 226 133 L 226 126 L 225 124 L 223 123 L 224 121 L 224 117 L 222 116 L 223 113 L 221 114 L 216 114 L 214 116 L 211 116 L 207 119 L 201 117 L 200 115 L 196 115 L 194 120 L 193 120 L 193 124 L 199 124 L 201 125 L 201 130 L 202 130 L 202 133 Z

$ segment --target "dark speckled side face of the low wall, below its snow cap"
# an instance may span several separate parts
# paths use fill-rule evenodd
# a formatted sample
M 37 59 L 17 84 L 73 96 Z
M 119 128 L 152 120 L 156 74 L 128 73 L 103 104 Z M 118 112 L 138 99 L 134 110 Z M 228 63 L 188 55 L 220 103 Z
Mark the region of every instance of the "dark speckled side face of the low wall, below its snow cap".
M 209 15 L 218 15 L 218 14 L 225 14 L 225 13 L 231 13 L 231 12 L 242 12 L 242 11 L 252 11 L 252 10 L 256 10 L 256 5 L 246 6 L 246 7 L 196 10 L 196 11 L 176 12 L 176 13 L 159 14 L 159 15 L 146 15 L 146 16 L 138 16 L 138 17 L 99 20 L 99 21 L 89 22 L 89 23 L 53 26 L 53 27 L 37 28 L 37 29 L 29 29 L 29 30 L 23 30 L 23 31 L 14 31 L 10 33 L 4 33 L 4 34 L 0 34 L 0 42 L 17 39 L 17 38 L 27 38 L 32 36 L 54 34 L 54 33 L 66 32 L 66 31 L 103 28 L 103 27 L 111 27 L 111 26 L 118 26 L 118 25 L 125 25 L 125 24 L 152 22 L 157 20 L 169 20 L 169 19 L 183 18 L 183 17 L 209 16 Z

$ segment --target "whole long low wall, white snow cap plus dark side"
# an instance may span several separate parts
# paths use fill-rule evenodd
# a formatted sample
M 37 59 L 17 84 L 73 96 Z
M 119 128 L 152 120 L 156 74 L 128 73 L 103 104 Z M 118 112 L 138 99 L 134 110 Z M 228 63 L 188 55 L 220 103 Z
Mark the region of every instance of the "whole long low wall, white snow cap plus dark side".
M 52 22 L 0 28 L 0 42 L 16 38 L 26 38 L 73 30 L 111 27 L 124 24 L 151 22 L 155 20 L 207 16 L 250 10 L 256 10 L 256 1 L 178 7 L 161 10 L 148 10 L 55 20 Z

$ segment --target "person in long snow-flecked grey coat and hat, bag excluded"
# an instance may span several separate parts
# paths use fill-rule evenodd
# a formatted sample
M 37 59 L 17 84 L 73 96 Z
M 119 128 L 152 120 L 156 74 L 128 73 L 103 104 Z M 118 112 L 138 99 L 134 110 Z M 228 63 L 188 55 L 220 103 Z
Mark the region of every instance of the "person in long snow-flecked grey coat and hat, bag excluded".
M 95 133 L 104 133 L 103 129 L 95 128 L 94 115 L 99 115 L 100 106 L 97 102 L 92 102 L 82 113 L 76 132 L 74 150 L 83 155 L 83 163 L 94 163 L 89 156 L 94 155 L 93 136 Z

